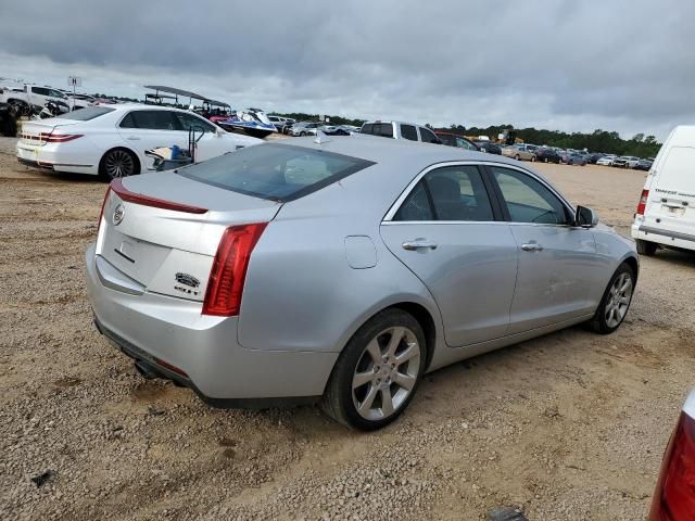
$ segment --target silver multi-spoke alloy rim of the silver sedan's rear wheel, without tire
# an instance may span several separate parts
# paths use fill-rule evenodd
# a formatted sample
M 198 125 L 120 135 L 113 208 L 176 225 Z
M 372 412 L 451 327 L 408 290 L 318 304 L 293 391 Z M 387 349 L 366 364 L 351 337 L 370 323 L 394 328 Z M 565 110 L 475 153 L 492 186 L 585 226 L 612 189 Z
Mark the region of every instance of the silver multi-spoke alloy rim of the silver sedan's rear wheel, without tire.
M 352 399 L 367 420 L 392 416 L 406 402 L 417 382 L 421 347 L 405 327 L 377 334 L 365 347 L 352 378 Z

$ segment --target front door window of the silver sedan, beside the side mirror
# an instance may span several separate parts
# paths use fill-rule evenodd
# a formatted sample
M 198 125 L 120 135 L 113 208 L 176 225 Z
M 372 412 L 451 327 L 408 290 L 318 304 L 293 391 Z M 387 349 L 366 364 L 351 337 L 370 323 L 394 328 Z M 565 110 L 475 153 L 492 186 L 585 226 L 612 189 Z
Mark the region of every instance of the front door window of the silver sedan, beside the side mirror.
M 567 225 L 565 204 L 543 183 L 510 168 L 492 167 L 513 223 Z

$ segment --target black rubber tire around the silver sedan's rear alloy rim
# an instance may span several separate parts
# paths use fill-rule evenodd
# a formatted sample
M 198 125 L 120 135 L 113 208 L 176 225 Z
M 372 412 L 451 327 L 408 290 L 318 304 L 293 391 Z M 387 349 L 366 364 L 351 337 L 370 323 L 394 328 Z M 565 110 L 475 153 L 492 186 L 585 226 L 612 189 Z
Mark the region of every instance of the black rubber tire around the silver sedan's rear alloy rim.
M 413 333 L 415 333 L 418 340 L 418 343 L 420 345 L 420 367 L 418 370 L 418 377 L 415 382 L 415 386 L 410 391 L 410 394 L 393 415 L 391 415 L 389 418 L 384 418 L 378 421 L 367 420 L 359 416 L 359 412 L 357 412 L 352 398 L 352 379 L 355 367 L 362 358 L 367 343 L 369 343 L 377 334 L 379 334 L 384 329 L 396 326 L 408 328 L 410 331 L 413 331 Z M 361 431 L 374 431 L 377 429 L 381 429 L 394 421 L 407 408 L 417 392 L 427 363 L 426 346 L 427 344 L 422 328 L 420 327 L 418 321 L 406 312 L 395 308 L 387 309 L 369 319 L 357 330 L 352 339 L 350 339 L 338 363 L 336 364 L 336 368 L 333 369 L 333 374 L 331 376 L 331 381 L 329 382 L 328 393 L 331 396 L 326 397 L 332 403 L 334 414 L 331 414 L 331 416 L 333 416 L 337 420 L 341 421 L 348 427 Z

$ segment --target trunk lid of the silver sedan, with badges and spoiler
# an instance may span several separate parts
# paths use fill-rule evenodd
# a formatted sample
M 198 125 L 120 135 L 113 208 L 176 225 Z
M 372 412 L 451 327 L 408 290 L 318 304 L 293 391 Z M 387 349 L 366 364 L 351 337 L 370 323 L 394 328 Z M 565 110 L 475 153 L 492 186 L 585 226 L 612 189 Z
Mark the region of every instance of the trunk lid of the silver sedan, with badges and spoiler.
M 203 301 L 223 232 L 229 226 L 268 223 L 281 203 L 198 182 L 173 173 L 123 179 L 126 192 L 110 191 L 104 202 L 97 254 L 144 291 Z M 160 202 L 200 208 L 157 207 Z M 189 208 L 190 209 L 190 208 Z

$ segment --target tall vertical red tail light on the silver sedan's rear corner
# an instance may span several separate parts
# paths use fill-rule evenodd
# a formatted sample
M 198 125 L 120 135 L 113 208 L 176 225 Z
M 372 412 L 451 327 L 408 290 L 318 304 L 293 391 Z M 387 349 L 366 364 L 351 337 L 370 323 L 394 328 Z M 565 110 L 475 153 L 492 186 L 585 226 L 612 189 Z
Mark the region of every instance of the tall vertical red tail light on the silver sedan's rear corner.
M 203 315 L 239 315 L 251 252 L 267 223 L 230 226 L 217 246 L 203 302 Z

